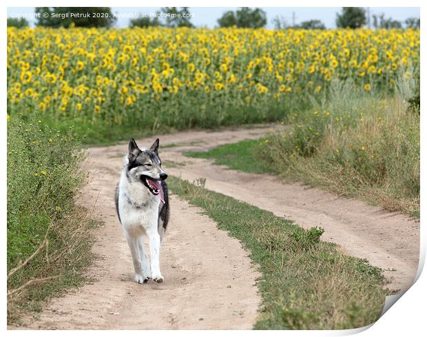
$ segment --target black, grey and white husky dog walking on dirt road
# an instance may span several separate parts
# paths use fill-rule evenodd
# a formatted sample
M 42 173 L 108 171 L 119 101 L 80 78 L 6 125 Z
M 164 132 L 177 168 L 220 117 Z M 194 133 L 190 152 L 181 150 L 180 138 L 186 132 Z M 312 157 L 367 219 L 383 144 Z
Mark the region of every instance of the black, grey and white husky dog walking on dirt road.
M 116 211 L 132 253 L 135 281 L 152 278 L 163 282 L 160 273 L 160 244 L 169 221 L 166 172 L 158 156 L 158 139 L 148 150 L 129 141 L 129 153 L 116 188 Z M 149 241 L 151 263 L 144 249 Z

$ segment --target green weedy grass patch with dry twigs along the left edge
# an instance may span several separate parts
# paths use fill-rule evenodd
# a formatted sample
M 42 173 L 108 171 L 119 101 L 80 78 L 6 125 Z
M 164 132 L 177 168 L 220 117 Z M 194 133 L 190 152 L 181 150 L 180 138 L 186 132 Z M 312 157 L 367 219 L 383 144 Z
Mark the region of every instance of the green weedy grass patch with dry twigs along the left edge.
M 8 121 L 8 323 L 84 280 L 96 223 L 74 203 L 82 158 L 71 130 Z

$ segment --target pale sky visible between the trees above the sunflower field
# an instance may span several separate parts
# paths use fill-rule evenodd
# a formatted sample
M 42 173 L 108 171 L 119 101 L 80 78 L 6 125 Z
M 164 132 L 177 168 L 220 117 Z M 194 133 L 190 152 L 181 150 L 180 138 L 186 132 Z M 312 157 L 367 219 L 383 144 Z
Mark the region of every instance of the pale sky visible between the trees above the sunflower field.
M 229 8 L 189 8 L 191 14 L 194 15 L 191 18 L 191 23 L 196 27 L 208 27 L 214 28 L 218 25 L 216 20 L 222 16 L 227 10 L 236 10 L 236 7 Z M 282 8 L 263 8 L 264 12 L 267 13 L 267 25 L 266 28 L 274 28 L 273 18 L 282 17 L 289 25 L 292 25 L 293 20 L 295 24 L 302 21 L 311 19 L 318 19 L 326 25 L 326 28 L 336 28 L 335 18 L 336 13 L 341 11 L 340 7 L 322 7 L 322 8 L 307 8 L 307 7 L 282 7 Z M 138 13 L 155 13 L 160 10 L 160 7 L 112 7 L 112 13 L 117 14 L 117 20 L 114 24 L 116 28 L 125 28 L 129 25 L 129 17 L 135 16 Z M 417 7 L 371 7 L 369 8 L 371 15 L 385 14 L 385 17 L 392 17 L 398 21 L 405 21 L 408 17 L 419 18 L 419 8 Z M 23 14 L 26 19 L 30 22 L 30 25 L 34 27 L 34 18 L 31 14 L 34 13 L 34 8 L 8 8 L 8 17 L 16 17 L 17 15 Z

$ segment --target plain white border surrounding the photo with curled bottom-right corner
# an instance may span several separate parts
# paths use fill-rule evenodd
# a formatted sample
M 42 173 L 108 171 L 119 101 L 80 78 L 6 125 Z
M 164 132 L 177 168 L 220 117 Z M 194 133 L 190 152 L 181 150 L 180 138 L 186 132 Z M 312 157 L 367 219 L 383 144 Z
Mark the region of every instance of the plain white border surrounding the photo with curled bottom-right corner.
M 40 4 L 37 6 L 70 6 L 70 2 L 68 1 L 38 1 Z M 360 0 L 360 1 L 330 1 L 325 0 L 319 3 L 318 1 L 307 1 L 300 0 L 298 1 L 299 7 L 319 7 L 322 5 L 323 7 L 338 7 L 338 6 L 360 6 L 360 7 L 420 7 L 421 9 L 421 60 L 426 56 L 426 41 L 424 41 L 424 20 L 426 19 L 426 4 L 425 1 L 415 1 L 415 0 L 406 0 L 404 3 L 401 1 L 386 1 L 386 0 Z M 114 7 L 119 4 L 120 6 L 126 7 L 135 7 L 135 6 L 147 6 L 152 3 L 145 3 L 140 1 L 90 1 L 90 6 L 110 6 Z M 156 1 L 156 6 L 188 6 L 188 7 L 200 7 L 201 5 L 205 7 L 236 7 L 236 6 L 249 6 L 249 7 L 285 7 L 285 6 L 295 6 L 295 3 L 288 3 L 284 1 L 254 1 L 254 0 L 246 0 L 246 1 L 225 1 L 225 0 L 217 0 L 217 1 L 204 1 L 200 3 L 198 1 L 185 0 L 185 1 Z M 7 99 L 7 73 L 6 73 L 6 6 L 9 7 L 33 7 L 34 1 L 6 1 L 4 5 L 1 7 L 1 18 L 3 22 L 3 27 L 1 28 L 2 34 L 1 39 L 3 45 L 3 52 L 1 53 L 1 60 L 3 64 L 3 68 L 1 68 L 1 72 L 3 74 L 1 81 L 2 86 L 2 103 L 4 110 L 6 110 L 6 99 Z M 89 6 L 88 1 L 76 0 L 72 2 L 72 6 Z M 426 81 L 426 69 L 421 68 L 421 92 L 425 87 L 424 83 Z M 0 127 L 3 132 L 1 132 L 1 143 L 0 143 L 0 155 L 3 159 L 3 165 L 0 165 L 0 175 L 1 175 L 1 205 L 0 205 L 0 214 L 2 216 L 3 230 L 1 231 L 1 247 L 3 253 L 3 259 L 1 260 L 1 267 L 3 270 L 3 278 L 1 278 L 2 283 L 2 296 L 3 296 L 3 306 L 1 307 L 1 320 L 3 322 L 3 327 L 6 329 L 6 112 L 4 112 L 0 117 Z M 421 104 L 421 172 L 426 168 L 426 160 L 424 154 L 424 149 L 426 146 L 426 136 L 423 131 L 426 130 L 426 118 L 424 117 L 427 113 L 426 108 L 423 104 Z M 421 175 L 421 187 L 425 187 L 426 179 L 424 175 Z M 421 214 L 424 214 L 426 203 L 424 198 L 424 188 L 421 188 Z M 424 261 L 426 258 L 426 241 L 427 235 L 426 230 L 423 225 L 421 225 L 421 249 L 420 249 L 420 267 L 419 274 L 422 270 L 422 265 L 424 265 Z M 389 335 L 389 336 L 403 336 L 404 334 L 409 336 L 421 336 L 421 331 L 426 331 L 424 320 L 426 319 L 426 309 L 424 305 L 424 299 L 427 298 L 427 276 L 426 272 L 422 273 L 415 285 L 411 287 L 406 294 L 400 298 L 393 307 L 391 307 L 382 318 L 380 318 L 377 323 L 373 324 L 370 329 L 355 329 L 344 330 L 344 331 L 223 331 L 221 334 L 225 334 L 226 336 L 233 334 L 271 334 L 283 336 L 283 334 L 291 334 L 291 335 L 299 335 L 299 336 L 342 336 L 346 334 L 354 334 L 356 332 L 363 331 L 363 336 L 378 336 L 378 335 Z M 7 331 L 8 334 L 14 334 L 17 336 L 21 336 L 25 334 L 26 331 Z M 32 336 L 45 336 L 45 334 L 64 334 L 70 335 L 74 334 L 73 331 L 31 331 Z M 116 334 L 120 334 L 117 331 L 81 331 L 81 334 L 90 334 L 93 336 L 94 334 L 103 334 L 109 336 L 115 336 Z M 144 334 L 144 332 L 137 331 L 136 334 Z M 148 332 L 151 334 L 151 332 Z M 425 333 L 425 332 L 424 332 Z M 177 334 L 178 336 L 196 336 L 200 335 L 200 331 L 158 331 L 157 334 Z M 216 331 L 204 331 L 203 334 L 213 335 L 217 334 Z

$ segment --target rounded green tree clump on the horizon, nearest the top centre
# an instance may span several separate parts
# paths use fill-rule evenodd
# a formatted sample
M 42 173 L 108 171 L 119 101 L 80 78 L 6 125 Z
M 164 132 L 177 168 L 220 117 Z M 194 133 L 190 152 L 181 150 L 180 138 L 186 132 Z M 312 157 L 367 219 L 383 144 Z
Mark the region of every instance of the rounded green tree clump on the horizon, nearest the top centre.
M 260 8 L 242 7 L 236 13 L 231 10 L 225 12 L 217 22 L 220 27 L 262 28 L 267 24 L 267 14 Z

